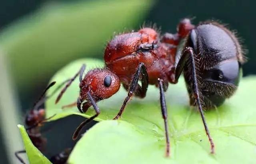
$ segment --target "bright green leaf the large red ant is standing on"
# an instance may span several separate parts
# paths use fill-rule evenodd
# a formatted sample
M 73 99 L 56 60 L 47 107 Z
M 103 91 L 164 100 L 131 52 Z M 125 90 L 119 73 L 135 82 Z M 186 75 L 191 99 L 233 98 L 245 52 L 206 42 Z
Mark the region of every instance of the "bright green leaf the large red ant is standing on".
M 62 82 L 74 76 L 82 63 L 89 70 L 102 66 L 100 61 L 82 59 L 72 62 L 52 78 Z M 102 121 L 112 119 L 119 111 L 127 95 L 123 88 L 118 94 L 99 102 L 101 114 L 96 120 L 102 121 L 92 127 L 76 144 L 70 163 L 256 163 L 256 101 L 254 76 L 243 78 L 238 91 L 224 105 L 205 111 L 206 121 L 213 137 L 216 154 L 210 154 L 210 144 L 198 110 L 189 107 L 184 79 L 169 85 L 166 92 L 168 122 L 171 143 L 171 157 L 165 158 L 164 122 L 159 103 L 159 90 L 150 86 L 146 98 L 134 98 L 128 103 L 122 121 Z M 58 113 L 53 119 L 70 114 L 90 117 L 78 113 L 76 107 L 61 109 L 62 105 L 76 101 L 79 88 L 78 79 L 68 88 L 59 104 L 55 105 L 55 95 L 46 103 L 48 117 Z M 56 87 L 56 86 L 55 86 Z M 52 89 L 54 90 L 54 88 Z M 70 134 L 71 137 L 72 134 Z M 85 155 L 86 154 L 86 155 Z

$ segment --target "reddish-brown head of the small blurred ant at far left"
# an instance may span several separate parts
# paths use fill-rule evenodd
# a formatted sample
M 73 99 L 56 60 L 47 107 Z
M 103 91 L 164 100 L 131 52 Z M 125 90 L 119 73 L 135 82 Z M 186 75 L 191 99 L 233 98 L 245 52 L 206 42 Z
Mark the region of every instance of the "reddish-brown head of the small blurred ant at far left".
M 36 123 L 43 121 L 45 118 L 44 109 L 30 110 L 26 115 L 25 123 L 28 127 L 34 126 Z

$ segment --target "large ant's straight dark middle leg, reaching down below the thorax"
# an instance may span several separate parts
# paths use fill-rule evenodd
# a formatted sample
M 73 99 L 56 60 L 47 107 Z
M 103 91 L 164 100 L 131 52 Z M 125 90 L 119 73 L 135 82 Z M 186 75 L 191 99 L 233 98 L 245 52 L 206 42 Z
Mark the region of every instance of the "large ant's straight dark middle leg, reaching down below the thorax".
M 164 129 L 165 129 L 165 137 L 166 137 L 166 156 L 170 156 L 170 140 L 168 135 L 168 122 L 167 122 L 167 108 L 164 96 L 164 85 L 163 80 L 158 78 L 159 89 L 160 89 L 160 102 L 161 102 L 161 111 L 164 119 Z

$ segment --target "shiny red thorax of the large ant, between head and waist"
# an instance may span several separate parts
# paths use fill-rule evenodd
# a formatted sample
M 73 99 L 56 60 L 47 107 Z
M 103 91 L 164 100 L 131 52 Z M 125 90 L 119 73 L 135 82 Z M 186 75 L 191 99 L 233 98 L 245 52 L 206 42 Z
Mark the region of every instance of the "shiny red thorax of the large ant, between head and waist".
M 175 53 L 176 46 L 162 43 L 154 29 L 143 28 L 116 35 L 106 47 L 104 60 L 124 85 L 130 84 L 139 63 L 146 66 L 149 84 L 157 84 L 158 78 L 168 82 Z

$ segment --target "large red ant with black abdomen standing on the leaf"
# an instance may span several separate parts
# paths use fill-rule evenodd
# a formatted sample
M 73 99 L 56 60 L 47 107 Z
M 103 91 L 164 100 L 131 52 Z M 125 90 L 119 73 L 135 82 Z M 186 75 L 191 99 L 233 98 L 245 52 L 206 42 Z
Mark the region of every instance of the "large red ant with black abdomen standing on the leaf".
M 181 56 L 178 56 L 177 47 L 182 40 L 185 40 L 185 44 L 182 45 Z M 82 75 L 85 65 L 82 65 L 72 78 L 80 74 L 80 96 L 76 102 L 78 110 L 85 113 L 93 106 L 96 111 L 95 115 L 77 127 L 73 134 L 74 140 L 82 127 L 100 114 L 96 103 L 114 95 L 121 83 L 128 95 L 114 119 L 122 115 L 133 95 L 144 98 L 150 84 L 160 90 L 166 156 L 169 156 L 170 141 L 164 92 L 168 83 L 176 84 L 183 72 L 190 105 L 198 106 L 211 153 L 214 154 L 214 142 L 203 109 L 220 106 L 238 88 L 241 65 L 245 62 L 245 57 L 234 33 L 216 21 L 192 25 L 189 19 L 180 21 L 176 34 L 165 33 L 160 36 L 156 30 L 144 27 L 138 32 L 116 35 L 106 46 L 104 61 L 105 68 L 90 70 L 84 78 Z M 56 103 L 72 81 L 62 89 Z M 139 81 L 141 85 L 138 84 Z

